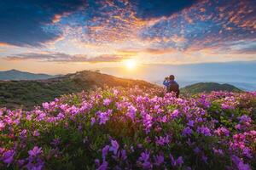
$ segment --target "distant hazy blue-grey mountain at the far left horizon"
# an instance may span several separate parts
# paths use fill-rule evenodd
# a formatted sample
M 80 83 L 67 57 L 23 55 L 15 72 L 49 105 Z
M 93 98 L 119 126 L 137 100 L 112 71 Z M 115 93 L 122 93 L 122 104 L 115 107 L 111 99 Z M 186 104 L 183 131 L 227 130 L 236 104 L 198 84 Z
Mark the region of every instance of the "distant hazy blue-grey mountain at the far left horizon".
M 17 70 L 0 71 L 0 80 L 43 80 L 53 77 L 56 76 L 51 76 L 47 74 L 33 74 L 30 72 Z

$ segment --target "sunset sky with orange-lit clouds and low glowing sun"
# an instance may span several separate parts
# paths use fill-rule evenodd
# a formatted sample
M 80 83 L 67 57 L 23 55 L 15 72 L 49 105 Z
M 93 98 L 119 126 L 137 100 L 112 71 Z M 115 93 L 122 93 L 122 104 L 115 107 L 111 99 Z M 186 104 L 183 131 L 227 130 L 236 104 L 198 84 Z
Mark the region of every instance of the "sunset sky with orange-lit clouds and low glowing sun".
M 0 0 L 0 70 L 250 62 L 255 7 L 255 0 Z

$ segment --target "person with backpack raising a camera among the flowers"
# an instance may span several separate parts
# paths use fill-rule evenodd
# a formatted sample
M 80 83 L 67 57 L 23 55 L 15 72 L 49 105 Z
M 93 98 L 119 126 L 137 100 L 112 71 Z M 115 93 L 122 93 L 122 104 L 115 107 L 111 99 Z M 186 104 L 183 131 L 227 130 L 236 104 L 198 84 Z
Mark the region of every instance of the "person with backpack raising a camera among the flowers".
M 179 85 L 174 80 L 175 77 L 171 75 L 170 77 L 166 77 L 163 84 L 166 86 L 166 93 L 172 93 L 174 92 L 176 94 L 176 97 L 179 96 Z

